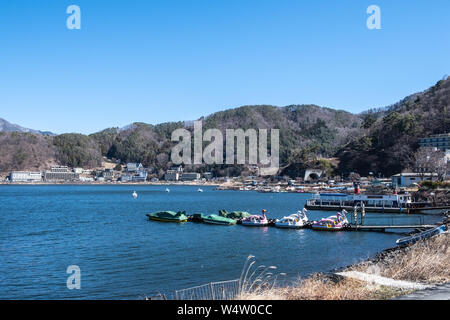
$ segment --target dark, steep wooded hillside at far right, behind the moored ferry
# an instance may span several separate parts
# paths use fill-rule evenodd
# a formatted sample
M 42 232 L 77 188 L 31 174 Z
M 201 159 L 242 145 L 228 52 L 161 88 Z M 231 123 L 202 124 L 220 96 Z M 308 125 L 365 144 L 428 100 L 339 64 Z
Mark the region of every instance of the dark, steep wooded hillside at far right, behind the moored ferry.
M 421 137 L 450 132 L 450 78 L 362 117 L 362 136 L 337 154 L 339 170 L 389 176 L 412 168 Z

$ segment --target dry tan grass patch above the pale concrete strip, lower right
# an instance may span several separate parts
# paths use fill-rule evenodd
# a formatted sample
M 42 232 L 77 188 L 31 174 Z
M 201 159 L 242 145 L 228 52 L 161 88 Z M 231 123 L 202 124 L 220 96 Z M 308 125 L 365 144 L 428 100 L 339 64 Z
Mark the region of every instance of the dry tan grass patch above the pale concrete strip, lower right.
M 387 253 L 376 262 L 366 261 L 351 269 L 397 280 L 450 282 L 450 234 L 417 242 Z

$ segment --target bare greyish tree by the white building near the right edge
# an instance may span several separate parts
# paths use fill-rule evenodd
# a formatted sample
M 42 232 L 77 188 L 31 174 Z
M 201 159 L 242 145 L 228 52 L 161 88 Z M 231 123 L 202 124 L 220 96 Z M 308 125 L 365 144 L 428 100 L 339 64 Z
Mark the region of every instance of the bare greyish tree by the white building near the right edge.
M 424 180 L 427 174 L 431 177 L 437 174 L 438 180 L 444 180 L 447 173 L 447 159 L 445 153 L 433 147 L 421 147 L 414 154 L 415 168 Z

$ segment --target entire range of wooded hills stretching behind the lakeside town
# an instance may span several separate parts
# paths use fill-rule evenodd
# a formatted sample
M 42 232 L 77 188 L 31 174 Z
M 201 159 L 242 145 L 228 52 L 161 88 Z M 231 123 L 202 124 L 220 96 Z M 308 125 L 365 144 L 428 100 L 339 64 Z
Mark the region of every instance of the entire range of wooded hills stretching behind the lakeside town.
M 325 165 L 320 157 L 338 157 L 336 174 L 358 172 L 391 175 L 411 167 L 418 139 L 450 132 L 450 78 L 402 101 L 362 114 L 315 105 L 243 106 L 203 117 L 203 130 L 280 130 L 280 165 L 289 175 L 308 165 Z M 5 127 L 5 126 L 4 126 Z M 191 122 L 158 125 L 133 123 L 126 128 L 109 128 L 91 134 L 46 136 L 8 126 L 0 132 L 0 172 L 31 170 L 62 164 L 97 167 L 102 157 L 126 162 L 142 162 L 160 173 L 171 166 L 171 133 L 177 128 L 192 131 Z M 1 128 L 0 128 L 1 129 Z M 0 130 L 1 131 L 1 130 Z M 225 134 L 224 134 L 225 137 Z M 205 143 L 206 144 L 206 143 Z M 224 149 L 225 151 L 225 149 Z M 238 167 L 238 166 L 235 166 Z M 239 174 L 226 166 L 204 167 L 218 174 Z

